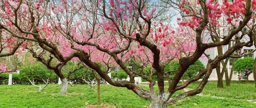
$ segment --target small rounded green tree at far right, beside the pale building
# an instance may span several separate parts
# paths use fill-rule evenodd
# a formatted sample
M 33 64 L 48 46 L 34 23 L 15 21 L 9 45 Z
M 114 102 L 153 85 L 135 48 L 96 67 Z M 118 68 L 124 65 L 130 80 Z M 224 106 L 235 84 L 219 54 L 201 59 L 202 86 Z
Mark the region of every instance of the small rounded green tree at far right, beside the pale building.
M 234 64 L 235 73 L 244 73 L 246 75 L 246 80 L 248 76 L 253 72 L 254 69 L 254 59 L 253 58 L 242 58 L 236 60 Z

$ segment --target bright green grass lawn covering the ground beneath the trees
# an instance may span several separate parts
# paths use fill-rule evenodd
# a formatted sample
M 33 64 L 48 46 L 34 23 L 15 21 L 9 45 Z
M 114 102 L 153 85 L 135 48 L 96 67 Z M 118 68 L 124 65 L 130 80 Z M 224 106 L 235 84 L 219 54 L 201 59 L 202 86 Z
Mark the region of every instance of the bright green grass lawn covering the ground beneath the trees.
M 203 94 L 218 96 L 226 95 L 226 99 L 217 99 L 204 96 L 192 96 L 179 101 L 174 106 L 168 108 L 256 108 L 256 104 L 240 99 L 235 99 L 237 92 L 236 84 L 241 86 L 240 92 L 246 91 L 241 99 L 255 99 L 256 92 L 251 82 L 241 84 L 233 82 L 230 87 L 225 87 L 221 91 L 216 89 L 216 82 L 209 82 L 203 90 Z M 193 83 L 190 88 L 195 88 L 198 82 Z M 214 86 L 215 85 L 215 86 Z M 249 86 L 247 88 L 247 86 Z M 230 88 L 230 89 L 228 89 Z M 213 90 L 212 90 L 213 89 Z M 61 96 L 60 85 L 50 84 L 42 92 L 32 85 L 0 85 L 0 108 L 81 108 L 86 103 L 96 104 L 96 90 L 90 89 L 86 84 L 77 84 L 68 88 L 68 93 Z M 126 88 L 114 87 L 101 84 L 101 102 L 115 105 L 117 108 L 148 108 L 149 101 L 143 100 Z M 218 93 L 215 93 L 218 92 Z M 238 92 L 238 93 L 240 93 Z M 175 95 L 178 95 L 177 92 Z M 248 96 L 247 96 L 248 95 Z M 225 96 L 222 96 L 225 97 Z

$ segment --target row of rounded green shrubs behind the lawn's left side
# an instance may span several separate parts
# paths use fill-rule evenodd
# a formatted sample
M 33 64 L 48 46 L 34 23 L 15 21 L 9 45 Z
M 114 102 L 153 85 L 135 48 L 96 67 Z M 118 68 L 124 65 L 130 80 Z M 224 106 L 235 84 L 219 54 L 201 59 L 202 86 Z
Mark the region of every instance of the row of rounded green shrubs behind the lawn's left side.
M 77 66 L 77 65 L 75 65 L 74 63 L 69 63 L 67 64 L 67 67 L 64 67 L 64 68 L 65 70 L 68 70 L 68 69 L 73 70 L 74 68 L 76 68 L 74 66 Z M 79 83 L 79 84 L 84 83 L 82 78 L 84 78 L 84 76 L 86 75 L 85 74 L 86 71 L 87 71 L 86 68 L 82 68 L 76 71 L 70 76 L 69 81 L 73 83 Z M 63 71 L 63 74 L 66 75 L 67 72 Z M 42 78 L 46 80 L 49 76 L 50 76 L 49 83 L 58 83 L 58 76 L 52 70 L 49 70 L 44 64 L 40 62 L 36 62 L 33 64 L 26 64 L 20 67 L 20 74 L 12 74 L 12 82 L 14 84 L 30 84 L 30 82 L 26 78 L 28 77 L 30 78 L 30 80 L 34 79 L 34 82 L 36 84 L 44 84 Z M 94 78 L 92 74 L 90 75 L 87 74 L 87 76 L 90 79 Z M 9 73 L 0 74 L 0 84 L 8 84 L 8 79 L 9 79 Z

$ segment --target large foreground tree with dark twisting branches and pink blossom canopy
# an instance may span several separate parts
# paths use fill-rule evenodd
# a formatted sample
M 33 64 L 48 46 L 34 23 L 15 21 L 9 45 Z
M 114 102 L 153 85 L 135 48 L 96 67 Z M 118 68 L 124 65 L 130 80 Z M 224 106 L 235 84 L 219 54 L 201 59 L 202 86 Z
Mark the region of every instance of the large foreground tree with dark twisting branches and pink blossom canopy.
M 220 3 L 222 2 L 222 3 Z M 243 46 L 252 46 L 256 0 L 2 0 L 0 3 L 1 50 L 26 51 L 60 77 L 60 68 L 70 60 L 82 62 L 113 86 L 126 87 L 138 96 L 164 106 L 202 91 L 217 63 Z M 158 6 L 155 4 L 162 4 Z M 178 27 L 165 18 L 172 7 L 180 12 Z M 223 20 L 224 19 L 224 20 Z M 211 59 L 209 48 L 236 42 L 222 56 Z M 0 56 L 1 56 L 0 52 Z M 208 58 L 206 69 L 184 84 L 178 82 L 188 67 L 201 56 Z M 127 68 L 126 61 L 151 65 L 156 82 L 141 72 Z M 178 60 L 174 78 L 164 71 L 164 64 Z M 57 62 L 57 63 L 56 63 Z M 120 66 L 129 81 L 111 79 L 98 62 L 108 69 Z M 143 66 L 141 70 L 143 70 Z M 150 91 L 136 86 L 134 74 L 150 82 Z M 168 78 L 165 92 L 164 76 Z M 204 76 L 196 90 L 170 98 Z M 162 97 L 161 97 L 162 96 Z M 164 99 L 158 102 L 156 98 Z

